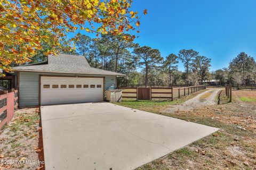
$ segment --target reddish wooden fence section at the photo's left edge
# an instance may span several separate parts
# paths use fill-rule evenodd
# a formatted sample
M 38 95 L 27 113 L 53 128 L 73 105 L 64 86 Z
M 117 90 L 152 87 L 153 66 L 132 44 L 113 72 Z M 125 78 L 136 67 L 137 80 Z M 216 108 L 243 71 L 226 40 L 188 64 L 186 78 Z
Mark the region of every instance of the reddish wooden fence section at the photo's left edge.
M 15 109 L 18 109 L 18 90 L 3 91 L 0 95 L 0 128 L 12 120 Z

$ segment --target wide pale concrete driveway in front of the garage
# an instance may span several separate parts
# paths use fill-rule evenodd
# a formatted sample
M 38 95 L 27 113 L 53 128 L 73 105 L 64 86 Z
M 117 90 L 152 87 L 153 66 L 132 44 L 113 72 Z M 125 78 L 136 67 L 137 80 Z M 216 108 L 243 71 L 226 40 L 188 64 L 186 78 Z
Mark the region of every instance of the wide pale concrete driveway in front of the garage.
M 218 128 L 110 103 L 42 106 L 45 167 L 134 169 Z

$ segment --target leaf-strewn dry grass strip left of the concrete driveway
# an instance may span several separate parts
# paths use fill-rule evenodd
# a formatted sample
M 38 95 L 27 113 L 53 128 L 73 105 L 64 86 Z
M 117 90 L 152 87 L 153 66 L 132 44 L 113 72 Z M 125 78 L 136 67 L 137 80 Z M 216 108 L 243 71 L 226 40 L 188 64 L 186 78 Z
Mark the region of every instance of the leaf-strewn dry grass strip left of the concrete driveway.
M 0 131 L 0 169 L 39 168 L 40 117 L 38 108 L 19 109 L 13 120 Z

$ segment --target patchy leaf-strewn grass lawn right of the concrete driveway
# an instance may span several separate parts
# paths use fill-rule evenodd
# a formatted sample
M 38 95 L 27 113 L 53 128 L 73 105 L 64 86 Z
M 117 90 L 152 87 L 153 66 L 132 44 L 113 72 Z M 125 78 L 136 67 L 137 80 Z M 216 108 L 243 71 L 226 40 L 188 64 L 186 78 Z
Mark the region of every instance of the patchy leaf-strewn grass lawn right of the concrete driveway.
M 244 92 L 237 91 L 245 95 Z M 237 96 L 234 91 L 234 98 Z M 247 96 L 244 96 L 247 97 Z M 227 103 L 225 91 L 220 105 L 193 111 L 162 113 L 162 108 L 181 101 L 124 101 L 123 106 L 180 118 L 220 128 L 208 137 L 143 165 L 138 170 L 156 169 L 256 169 L 256 105 L 237 98 Z

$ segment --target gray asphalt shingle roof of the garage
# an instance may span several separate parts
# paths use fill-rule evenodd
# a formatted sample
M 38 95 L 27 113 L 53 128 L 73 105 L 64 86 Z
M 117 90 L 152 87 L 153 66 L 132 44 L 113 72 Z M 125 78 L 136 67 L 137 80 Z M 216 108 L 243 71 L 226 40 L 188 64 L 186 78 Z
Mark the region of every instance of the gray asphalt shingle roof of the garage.
M 48 63 L 35 65 L 24 65 L 12 68 L 14 71 L 48 72 L 48 73 L 70 73 L 70 74 L 99 74 L 119 75 L 125 74 L 93 68 L 82 55 L 59 54 L 49 55 Z

